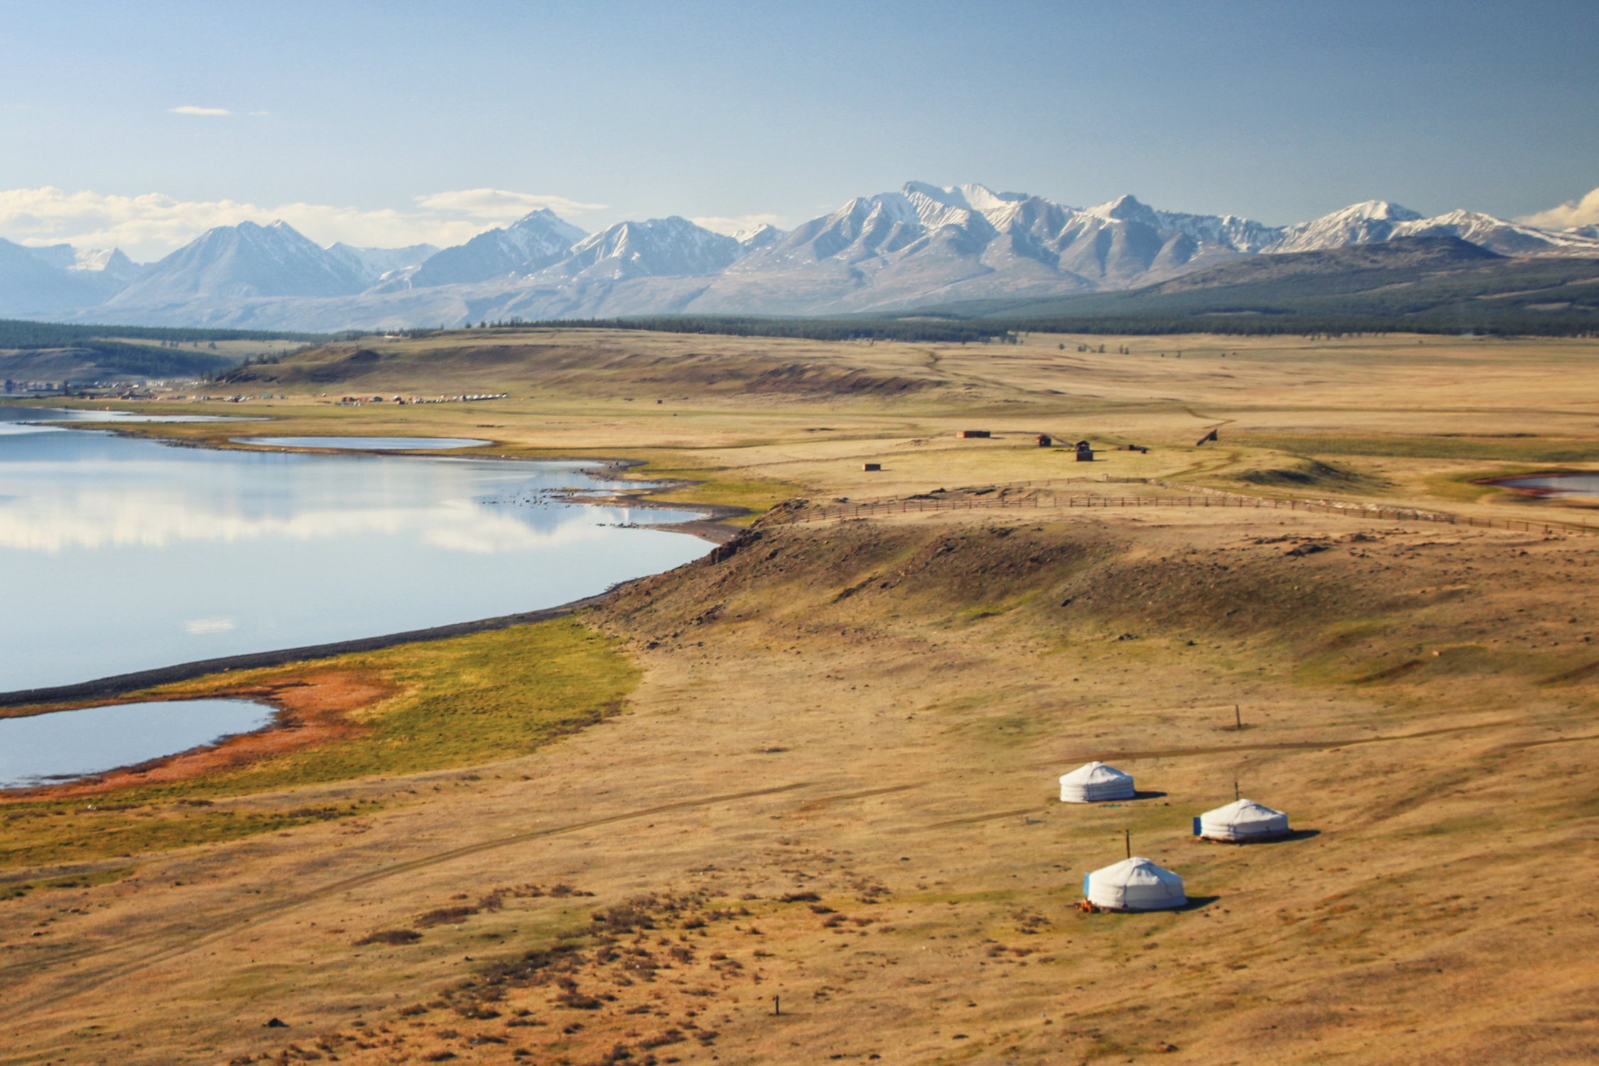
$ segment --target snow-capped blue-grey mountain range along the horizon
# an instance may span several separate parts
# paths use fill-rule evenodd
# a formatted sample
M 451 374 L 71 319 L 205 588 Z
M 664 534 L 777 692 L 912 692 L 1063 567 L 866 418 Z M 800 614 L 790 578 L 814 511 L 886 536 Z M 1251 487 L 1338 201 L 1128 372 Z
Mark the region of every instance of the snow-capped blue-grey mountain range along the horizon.
M 321 248 L 286 222 L 208 230 L 165 259 L 0 240 L 0 316 L 336 331 L 638 313 L 841 315 L 1134 289 L 1252 256 L 1447 237 L 1498 256 L 1599 257 L 1599 227 L 1546 230 L 1372 200 L 1286 227 L 908 182 L 793 230 L 688 219 L 598 233 L 539 209 L 437 249 Z

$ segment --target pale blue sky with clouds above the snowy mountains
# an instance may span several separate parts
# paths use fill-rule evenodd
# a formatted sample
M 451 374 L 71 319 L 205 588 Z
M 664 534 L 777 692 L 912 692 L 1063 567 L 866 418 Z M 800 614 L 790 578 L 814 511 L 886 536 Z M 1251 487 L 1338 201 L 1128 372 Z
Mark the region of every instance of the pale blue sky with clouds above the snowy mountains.
M 0 0 L 0 237 L 790 227 L 982 182 L 1599 222 L 1599 3 Z

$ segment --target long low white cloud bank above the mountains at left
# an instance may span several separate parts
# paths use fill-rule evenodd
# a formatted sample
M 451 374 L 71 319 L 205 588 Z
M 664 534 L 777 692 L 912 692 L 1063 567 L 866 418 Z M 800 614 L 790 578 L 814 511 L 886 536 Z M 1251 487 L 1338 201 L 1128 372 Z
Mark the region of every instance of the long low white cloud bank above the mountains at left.
M 352 208 L 325 203 L 275 206 L 240 200 L 174 200 L 161 193 L 136 197 L 40 189 L 0 190 L 0 237 L 21 245 L 70 243 L 78 248 L 122 248 L 134 259 L 158 259 L 217 225 L 283 219 L 321 245 L 345 241 L 366 248 L 459 245 L 496 225 L 515 222 L 547 206 L 569 216 L 603 205 L 568 197 L 467 189 L 416 198 L 414 208 Z

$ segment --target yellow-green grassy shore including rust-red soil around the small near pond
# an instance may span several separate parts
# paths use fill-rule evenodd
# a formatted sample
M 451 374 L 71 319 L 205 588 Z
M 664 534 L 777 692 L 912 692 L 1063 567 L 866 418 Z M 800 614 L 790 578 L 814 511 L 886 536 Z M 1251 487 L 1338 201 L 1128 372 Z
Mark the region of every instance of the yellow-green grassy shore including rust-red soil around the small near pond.
M 304 666 L 229 674 L 225 692 L 277 703 L 277 743 L 240 737 L 187 759 L 107 775 L 0 807 L 0 877 L 40 863 L 133 857 L 347 818 L 408 802 L 387 778 L 536 751 L 620 710 L 638 670 L 616 641 L 558 619 Z M 217 679 L 130 700 L 217 692 Z M 299 743 L 304 735 L 312 743 Z M 297 791 L 365 780 L 358 799 L 304 805 Z

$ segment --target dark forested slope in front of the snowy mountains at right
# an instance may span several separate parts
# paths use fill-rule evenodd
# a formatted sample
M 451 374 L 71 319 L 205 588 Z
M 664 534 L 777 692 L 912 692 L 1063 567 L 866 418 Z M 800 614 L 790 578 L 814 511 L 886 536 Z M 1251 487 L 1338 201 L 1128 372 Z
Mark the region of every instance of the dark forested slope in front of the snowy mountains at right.
M 1457 237 L 1414 237 L 1255 256 L 1126 292 L 923 310 L 1067 331 L 1569 332 L 1599 329 L 1599 257 L 1506 257 Z

